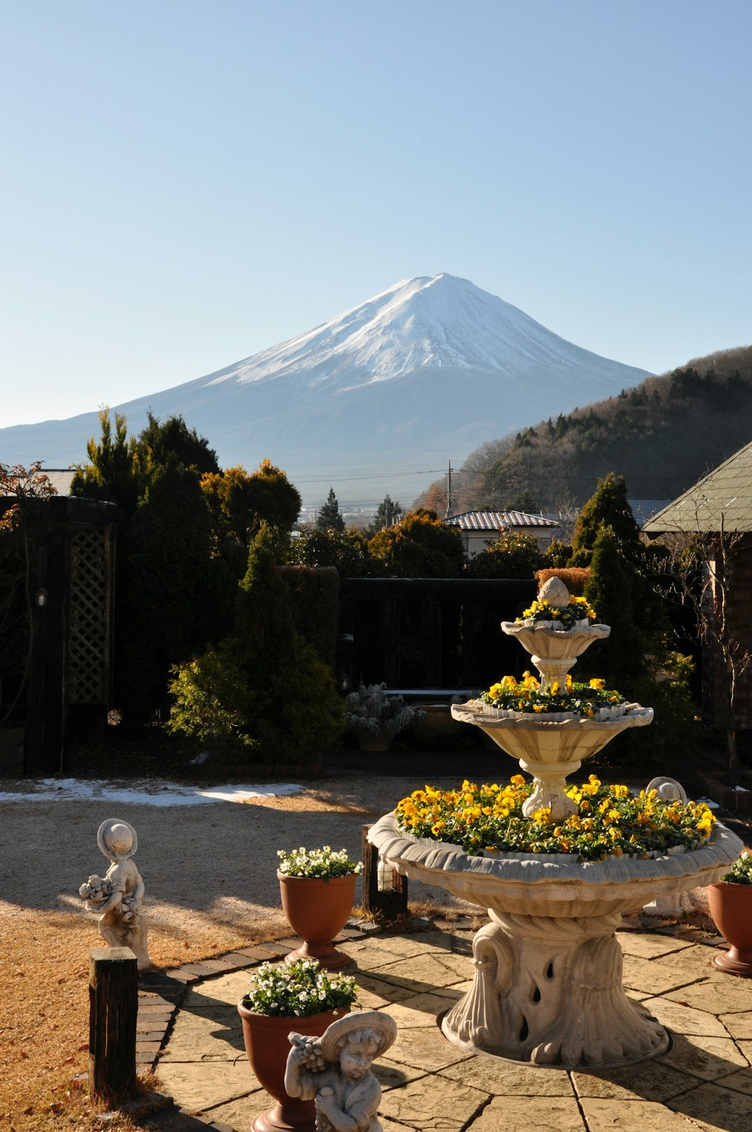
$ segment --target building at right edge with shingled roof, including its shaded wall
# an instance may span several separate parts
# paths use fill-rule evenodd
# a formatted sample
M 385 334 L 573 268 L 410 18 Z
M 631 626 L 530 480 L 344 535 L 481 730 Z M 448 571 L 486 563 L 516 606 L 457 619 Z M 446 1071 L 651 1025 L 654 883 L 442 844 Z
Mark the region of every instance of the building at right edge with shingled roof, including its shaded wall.
M 707 611 L 713 648 L 702 655 L 703 712 L 709 723 L 729 730 L 752 729 L 752 444 L 729 456 L 694 487 L 653 515 L 642 530 L 658 534 L 704 537 Z M 728 658 L 717 642 L 723 635 L 735 653 L 736 687 L 730 721 L 725 711 Z M 728 649 L 728 645 L 726 646 Z

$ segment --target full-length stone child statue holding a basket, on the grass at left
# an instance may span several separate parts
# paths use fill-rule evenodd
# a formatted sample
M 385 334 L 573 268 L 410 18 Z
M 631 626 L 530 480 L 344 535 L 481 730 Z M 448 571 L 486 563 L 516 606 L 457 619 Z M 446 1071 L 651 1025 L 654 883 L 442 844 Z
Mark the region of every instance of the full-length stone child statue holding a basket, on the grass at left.
M 146 940 L 146 917 L 142 912 L 144 882 L 130 858 L 138 848 L 136 831 L 120 817 L 108 817 L 100 825 L 96 842 L 110 860 L 105 876 L 89 876 L 78 890 L 86 910 L 100 912 L 100 935 L 111 947 L 130 947 L 139 971 L 154 964 Z

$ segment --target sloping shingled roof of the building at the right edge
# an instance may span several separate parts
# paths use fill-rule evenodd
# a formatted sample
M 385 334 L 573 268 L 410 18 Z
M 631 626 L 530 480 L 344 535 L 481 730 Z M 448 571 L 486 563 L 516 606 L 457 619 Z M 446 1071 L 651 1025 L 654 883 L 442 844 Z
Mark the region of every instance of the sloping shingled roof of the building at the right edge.
M 642 528 L 664 531 L 752 531 L 752 443 L 708 472 Z

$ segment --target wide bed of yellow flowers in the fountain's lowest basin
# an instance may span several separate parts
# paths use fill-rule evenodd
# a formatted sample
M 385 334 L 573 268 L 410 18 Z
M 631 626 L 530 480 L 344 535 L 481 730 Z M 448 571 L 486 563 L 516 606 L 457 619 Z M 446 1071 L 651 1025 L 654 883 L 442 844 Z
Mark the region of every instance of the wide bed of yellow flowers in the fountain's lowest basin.
M 657 790 L 634 796 L 626 786 L 604 786 L 595 774 L 566 795 L 578 811 L 554 821 L 549 809 L 524 817 L 522 805 L 533 783 L 515 774 L 505 786 L 462 783 L 459 790 L 427 786 L 395 808 L 400 831 L 472 856 L 565 855 L 567 859 L 659 857 L 698 849 L 715 817 L 704 803 L 666 801 Z

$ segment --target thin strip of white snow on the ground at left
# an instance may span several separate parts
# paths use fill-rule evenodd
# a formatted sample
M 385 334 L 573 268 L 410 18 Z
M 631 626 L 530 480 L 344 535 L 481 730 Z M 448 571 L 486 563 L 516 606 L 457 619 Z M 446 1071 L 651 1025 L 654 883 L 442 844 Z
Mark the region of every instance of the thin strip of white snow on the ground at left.
M 100 779 L 40 779 L 28 790 L 0 791 L 0 801 L 112 801 L 123 806 L 203 806 L 213 801 L 248 801 L 250 798 L 301 794 L 292 782 L 272 786 L 194 787 L 177 782 L 144 781 L 113 786 Z

